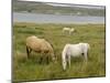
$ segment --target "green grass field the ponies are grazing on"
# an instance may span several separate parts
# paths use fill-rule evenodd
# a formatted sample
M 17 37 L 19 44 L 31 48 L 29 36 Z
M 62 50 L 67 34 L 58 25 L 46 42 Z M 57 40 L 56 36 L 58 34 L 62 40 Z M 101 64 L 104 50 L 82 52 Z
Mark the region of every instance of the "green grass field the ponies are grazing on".
M 73 27 L 77 31 L 68 35 L 63 33 L 64 27 Z M 106 75 L 106 39 L 105 24 L 37 24 L 13 23 L 13 81 L 38 81 L 57 79 L 94 77 Z M 57 63 L 38 63 L 40 54 L 32 52 L 26 58 L 25 39 L 36 35 L 48 40 L 57 56 Z M 66 43 L 87 42 L 90 44 L 88 63 L 82 58 L 72 58 L 72 66 L 63 71 L 62 51 Z

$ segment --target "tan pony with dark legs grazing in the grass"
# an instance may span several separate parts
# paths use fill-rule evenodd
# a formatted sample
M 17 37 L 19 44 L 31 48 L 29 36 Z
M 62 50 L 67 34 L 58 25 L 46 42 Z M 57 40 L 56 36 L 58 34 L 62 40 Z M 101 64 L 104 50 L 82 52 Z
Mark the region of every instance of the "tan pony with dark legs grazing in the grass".
M 40 39 L 35 35 L 26 38 L 26 53 L 28 59 L 30 58 L 31 51 L 42 53 L 42 54 L 51 54 L 52 60 L 55 60 L 54 50 L 51 43 L 48 43 L 45 39 Z

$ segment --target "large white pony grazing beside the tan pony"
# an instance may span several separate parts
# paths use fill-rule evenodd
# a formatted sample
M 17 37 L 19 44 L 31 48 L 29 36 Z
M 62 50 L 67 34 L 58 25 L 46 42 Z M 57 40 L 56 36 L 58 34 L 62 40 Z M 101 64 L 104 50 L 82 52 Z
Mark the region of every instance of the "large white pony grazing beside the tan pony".
M 70 66 L 70 56 L 80 56 L 82 54 L 87 61 L 89 49 L 90 46 L 88 43 L 66 44 L 62 52 L 63 69 L 66 70 L 67 62 Z

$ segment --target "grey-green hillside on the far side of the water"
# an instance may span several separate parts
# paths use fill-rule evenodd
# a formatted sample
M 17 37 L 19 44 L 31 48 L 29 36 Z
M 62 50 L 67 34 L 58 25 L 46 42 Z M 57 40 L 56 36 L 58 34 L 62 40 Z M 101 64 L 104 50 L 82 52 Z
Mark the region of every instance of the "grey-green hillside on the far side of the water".
M 70 15 L 105 15 L 103 9 L 80 8 L 80 7 L 59 7 L 45 2 L 28 2 L 13 0 L 13 11 L 15 12 L 34 12 L 48 14 L 70 14 Z

